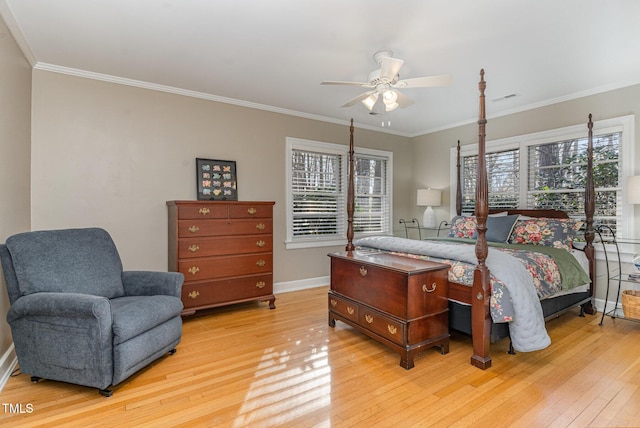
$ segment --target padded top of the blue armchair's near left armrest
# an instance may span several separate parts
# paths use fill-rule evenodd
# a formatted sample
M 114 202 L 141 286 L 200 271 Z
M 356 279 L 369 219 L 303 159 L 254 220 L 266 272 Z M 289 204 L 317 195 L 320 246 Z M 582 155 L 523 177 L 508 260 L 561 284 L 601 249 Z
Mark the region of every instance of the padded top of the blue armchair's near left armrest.
M 111 325 L 109 299 L 77 293 L 34 293 L 22 296 L 9 307 L 7 322 L 24 317 L 51 316 L 96 318 Z

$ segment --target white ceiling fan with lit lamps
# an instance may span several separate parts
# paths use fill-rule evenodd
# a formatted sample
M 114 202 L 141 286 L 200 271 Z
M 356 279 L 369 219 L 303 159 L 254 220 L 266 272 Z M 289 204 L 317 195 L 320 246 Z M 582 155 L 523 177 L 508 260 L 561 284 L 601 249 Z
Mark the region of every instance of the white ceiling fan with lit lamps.
M 393 52 L 384 50 L 373 55 L 376 64 L 380 64 L 378 70 L 369 73 L 368 82 L 341 82 L 326 81 L 322 85 L 342 85 L 360 86 L 371 88 L 357 97 L 347 101 L 342 107 L 351 107 L 358 102 L 362 102 L 370 114 L 380 114 L 385 111 L 392 111 L 396 108 L 404 108 L 413 104 L 413 100 L 397 89 L 403 88 L 426 88 L 435 86 L 448 86 L 451 83 L 451 76 L 425 76 L 413 79 L 400 80 L 400 68 L 404 61 L 393 58 Z

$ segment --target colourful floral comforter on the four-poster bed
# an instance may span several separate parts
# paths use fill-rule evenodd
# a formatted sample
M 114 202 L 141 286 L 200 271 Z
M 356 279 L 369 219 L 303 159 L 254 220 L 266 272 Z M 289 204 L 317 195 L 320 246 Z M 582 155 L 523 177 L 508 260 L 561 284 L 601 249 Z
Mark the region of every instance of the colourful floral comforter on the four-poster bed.
M 545 254 L 527 250 L 514 250 L 510 248 L 499 248 L 500 251 L 511 254 L 525 269 L 531 274 L 533 284 L 540 299 L 549 297 L 562 290 L 561 276 L 558 265 L 554 259 Z M 473 271 L 475 265 L 458 260 L 440 259 L 437 257 L 389 251 L 405 257 L 413 257 L 423 260 L 432 260 L 446 263 L 451 266 L 449 269 L 449 281 L 471 286 L 473 285 Z M 494 322 L 509 322 L 513 320 L 513 304 L 510 294 L 505 284 L 491 275 L 491 318 Z

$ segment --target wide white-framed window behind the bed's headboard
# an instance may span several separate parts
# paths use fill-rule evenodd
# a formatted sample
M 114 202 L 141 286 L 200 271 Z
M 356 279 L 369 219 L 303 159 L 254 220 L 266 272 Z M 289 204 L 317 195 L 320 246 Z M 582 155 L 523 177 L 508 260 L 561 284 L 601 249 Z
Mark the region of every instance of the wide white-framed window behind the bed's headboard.
M 633 175 L 633 122 L 633 116 L 602 120 L 593 129 L 594 222 L 610 225 L 620 236 L 633 233 L 631 206 L 623 199 L 625 177 Z M 556 208 L 584 218 L 587 132 L 586 125 L 577 125 L 488 142 L 489 208 Z M 477 147 L 460 150 L 466 214 L 475 209 Z M 455 156 L 453 149 L 452 177 Z M 455 186 L 452 200 L 455 204 Z

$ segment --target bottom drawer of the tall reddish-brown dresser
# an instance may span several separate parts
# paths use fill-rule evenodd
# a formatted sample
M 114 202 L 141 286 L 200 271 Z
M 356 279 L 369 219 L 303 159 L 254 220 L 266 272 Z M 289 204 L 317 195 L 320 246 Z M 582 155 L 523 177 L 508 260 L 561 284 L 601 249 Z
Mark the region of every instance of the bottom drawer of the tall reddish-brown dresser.
M 253 300 L 272 293 L 272 275 L 253 275 L 185 283 L 182 287 L 182 302 L 185 309 L 210 307 L 234 301 Z

